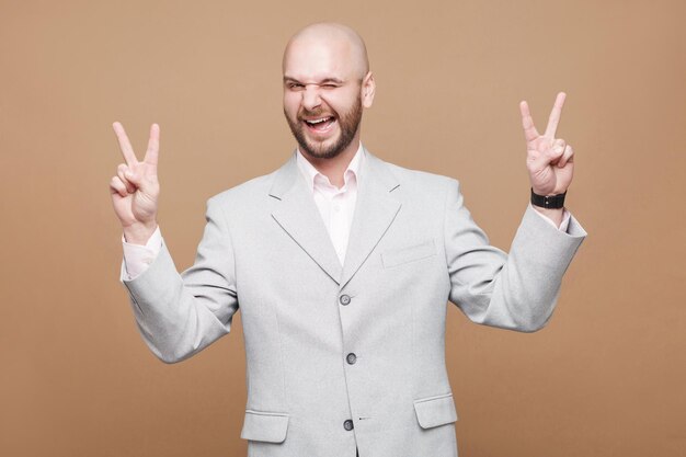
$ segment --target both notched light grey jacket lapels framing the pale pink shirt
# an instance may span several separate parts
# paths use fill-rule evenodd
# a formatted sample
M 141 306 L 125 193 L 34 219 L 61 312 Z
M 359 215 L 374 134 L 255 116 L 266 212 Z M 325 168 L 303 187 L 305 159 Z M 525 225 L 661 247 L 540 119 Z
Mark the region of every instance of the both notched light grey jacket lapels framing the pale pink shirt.
M 351 226 L 345 264 L 341 265 L 311 192 L 300 175 L 296 152 L 275 172 L 270 195 L 278 201 L 272 217 L 341 287 L 353 277 L 392 224 L 400 202 L 390 194 L 400 183 L 388 163 L 365 150 L 364 181 Z

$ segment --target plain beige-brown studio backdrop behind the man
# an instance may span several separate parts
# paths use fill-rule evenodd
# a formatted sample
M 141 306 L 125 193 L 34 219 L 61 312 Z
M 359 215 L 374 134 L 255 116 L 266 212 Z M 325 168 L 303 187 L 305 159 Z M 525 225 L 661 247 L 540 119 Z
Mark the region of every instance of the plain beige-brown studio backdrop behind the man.
M 323 19 L 369 47 L 365 145 L 458 178 L 503 249 L 528 197 L 517 103 L 542 129 L 569 94 L 568 206 L 590 237 L 542 331 L 449 307 L 460 456 L 686 455 L 685 13 L 678 0 L 0 1 L 0 455 L 244 455 L 240 313 L 179 365 L 137 333 L 111 124 L 141 149 L 160 123 L 160 222 L 186 267 L 205 201 L 290 153 L 281 54 Z

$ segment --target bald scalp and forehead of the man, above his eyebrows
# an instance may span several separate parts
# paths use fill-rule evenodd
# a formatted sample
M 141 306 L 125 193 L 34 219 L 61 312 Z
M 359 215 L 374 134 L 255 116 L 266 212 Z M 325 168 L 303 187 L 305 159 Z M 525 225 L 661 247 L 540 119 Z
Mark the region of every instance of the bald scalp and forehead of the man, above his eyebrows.
M 284 75 L 297 71 L 308 59 L 322 58 L 335 60 L 331 64 L 354 78 L 363 79 L 369 72 L 367 47 L 357 32 L 346 25 L 320 22 L 301 28 L 288 41 Z

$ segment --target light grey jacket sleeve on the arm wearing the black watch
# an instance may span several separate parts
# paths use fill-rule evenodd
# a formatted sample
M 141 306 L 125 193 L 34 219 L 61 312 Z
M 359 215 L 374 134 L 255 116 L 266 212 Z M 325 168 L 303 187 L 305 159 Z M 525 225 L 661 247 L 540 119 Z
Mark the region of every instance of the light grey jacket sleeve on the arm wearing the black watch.
M 562 276 L 585 236 L 573 216 L 563 232 L 527 206 L 507 254 L 489 244 L 464 205 L 459 183 L 450 180 L 445 212 L 449 299 L 473 322 L 539 330 L 552 315 Z

